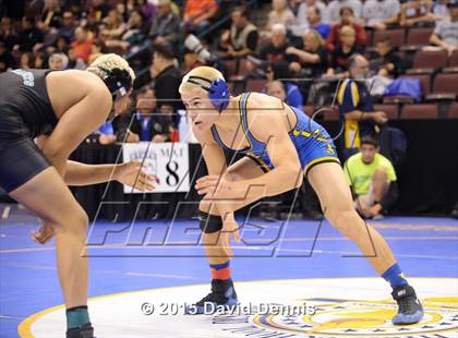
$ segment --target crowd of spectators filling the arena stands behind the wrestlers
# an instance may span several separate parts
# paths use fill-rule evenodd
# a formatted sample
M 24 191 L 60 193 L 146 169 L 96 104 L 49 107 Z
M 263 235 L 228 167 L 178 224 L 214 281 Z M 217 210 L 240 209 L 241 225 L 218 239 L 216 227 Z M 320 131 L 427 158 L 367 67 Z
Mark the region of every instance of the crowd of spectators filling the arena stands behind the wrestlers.
M 233 92 L 248 80 L 264 80 L 242 89 L 305 109 L 335 104 L 335 94 L 345 92 L 340 80 L 354 76 L 371 79 L 371 99 L 381 100 L 405 74 L 418 49 L 400 51 L 388 35 L 371 44 L 374 32 L 431 27 L 431 46 L 422 49 L 451 56 L 458 48 L 458 4 L 445 0 L 22 0 L 3 1 L 0 14 L 0 72 L 84 70 L 107 52 L 130 61 L 141 89 L 132 111 L 140 113 L 104 125 L 101 134 L 114 133 L 101 136 L 104 144 L 177 140 L 178 86 L 197 65 L 220 69 L 231 89 L 238 87 Z M 351 72 L 354 55 L 365 57 L 363 72 Z M 134 116 L 140 129 L 130 128 Z

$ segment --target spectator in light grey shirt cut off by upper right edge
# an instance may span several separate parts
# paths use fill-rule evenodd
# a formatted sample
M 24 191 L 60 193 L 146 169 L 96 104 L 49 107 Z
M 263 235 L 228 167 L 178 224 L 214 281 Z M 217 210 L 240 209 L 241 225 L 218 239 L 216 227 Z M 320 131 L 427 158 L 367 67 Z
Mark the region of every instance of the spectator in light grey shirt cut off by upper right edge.
M 448 4 L 448 10 L 450 21 L 438 22 L 430 41 L 451 55 L 455 49 L 458 49 L 458 3 Z

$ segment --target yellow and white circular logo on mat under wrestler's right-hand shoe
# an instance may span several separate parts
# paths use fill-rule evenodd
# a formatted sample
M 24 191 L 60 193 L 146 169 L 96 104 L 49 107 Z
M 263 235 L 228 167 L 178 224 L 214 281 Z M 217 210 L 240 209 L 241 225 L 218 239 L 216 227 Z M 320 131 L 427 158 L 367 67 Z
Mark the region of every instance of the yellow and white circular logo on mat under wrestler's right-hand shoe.
M 316 300 L 301 300 L 308 304 Z M 256 315 L 256 326 L 276 331 L 320 337 L 456 337 L 458 298 L 430 298 L 423 301 L 425 314 L 414 325 L 391 324 L 397 307 L 391 300 L 365 302 L 352 300 L 321 301 L 313 315 Z M 447 334 L 450 334 L 447 335 Z

